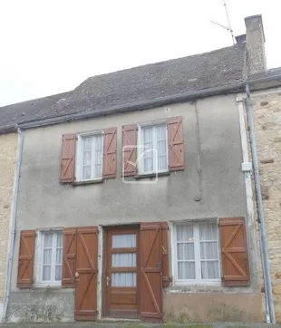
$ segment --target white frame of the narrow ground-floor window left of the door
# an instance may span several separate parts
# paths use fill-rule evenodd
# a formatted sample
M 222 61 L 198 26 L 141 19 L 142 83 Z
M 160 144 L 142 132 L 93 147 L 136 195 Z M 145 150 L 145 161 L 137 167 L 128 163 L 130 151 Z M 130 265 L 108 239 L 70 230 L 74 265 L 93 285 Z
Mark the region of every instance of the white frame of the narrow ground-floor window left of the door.
M 44 234 L 45 233 L 53 233 L 53 239 L 54 234 L 56 233 L 62 233 L 63 235 L 63 228 L 42 228 L 37 231 L 36 236 L 36 247 L 35 247 L 35 265 L 34 265 L 34 287 L 57 287 L 62 285 L 62 279 L 61 280 L 54 280 L 53 274 L 53 280 L 50 281 L 44 281 L 43 280 L 43 260 L 44 260 Z M 63 248 L 63 247 L 62 247 Z M 53 262 L 52 265 L 54 265 L 55 268 L 55 250 L 56 248 L 53 247 Z M 55 270 L 55 269 L 54 269 Z M 51 276 L 52 276 L 52 268 L 51 268 Z M 63 258 L 62 258 L 62 277 L 63 277 Z

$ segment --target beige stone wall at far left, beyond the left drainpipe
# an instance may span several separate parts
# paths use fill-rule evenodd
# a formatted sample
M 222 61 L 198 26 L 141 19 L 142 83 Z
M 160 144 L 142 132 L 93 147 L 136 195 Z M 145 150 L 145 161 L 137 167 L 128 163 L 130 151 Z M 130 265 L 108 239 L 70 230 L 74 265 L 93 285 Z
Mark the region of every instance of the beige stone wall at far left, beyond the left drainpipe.
M 7 246 L 15 177 L 17 134 L 0 135 L 0 320 L 5 295 Z

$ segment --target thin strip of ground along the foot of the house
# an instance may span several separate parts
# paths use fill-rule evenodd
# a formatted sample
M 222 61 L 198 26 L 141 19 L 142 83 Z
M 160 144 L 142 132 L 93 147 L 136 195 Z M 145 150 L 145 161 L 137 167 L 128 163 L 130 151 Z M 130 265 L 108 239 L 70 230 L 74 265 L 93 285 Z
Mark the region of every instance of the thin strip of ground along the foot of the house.
M 166 323 L 166 324 L 151 324 L 151 323 L 0 323 L 0 328 L 266 328 L 278 327 L 280 324 L 266 323 Z

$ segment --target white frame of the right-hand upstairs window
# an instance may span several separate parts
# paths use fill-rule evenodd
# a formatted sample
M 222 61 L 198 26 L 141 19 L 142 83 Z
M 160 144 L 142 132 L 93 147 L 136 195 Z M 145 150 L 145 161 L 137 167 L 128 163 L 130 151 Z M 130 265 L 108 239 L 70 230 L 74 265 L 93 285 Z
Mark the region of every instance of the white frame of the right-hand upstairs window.
M 156 127 L 158 125 L 166 125 L 166 155 L 167 155 L 167 169 L 158 169 L 158 157 L 156 157 L 156 160 L 153 158 L 153 170 L 152 171 L 143 171 L 143 156 L 142 156 L 142 150 L 143 150 L 143 138 L 142 138 L 142 130 L 146 127 Z M 152 134 L 152 143 L 156 144 L 156 133 Z M 168 153 L 168 125 L 166 120 L 161 121 L 146 121 L 142 123 L 138 123 L 138 174 L 139 175 L 147 175 L 147 174 L 156 174 L 156 173 L 165 173 L 169 172 L 169 153 Z

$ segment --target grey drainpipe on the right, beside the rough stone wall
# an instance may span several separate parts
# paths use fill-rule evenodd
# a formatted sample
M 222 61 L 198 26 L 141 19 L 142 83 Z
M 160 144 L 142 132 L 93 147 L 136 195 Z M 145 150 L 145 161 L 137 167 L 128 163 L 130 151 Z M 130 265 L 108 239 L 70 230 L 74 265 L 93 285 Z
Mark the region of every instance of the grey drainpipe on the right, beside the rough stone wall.
M 247 98 L 246 98 L 247 120 L 249 125 L 249 137 L 250 137 L 250 144 L 251 144 L 254 178 L 255 178 L 255 189 L 256 189 L 256 196 L 257 196 L 257 221 L 259 226 L 259 242 L 261 248 L 261 260 L 262 260 L 264 280 L 265 280 L 266 305 L 268 305 L 266 306 L 266 308 L 268 307 L 269 310 L 270 323 L 275 324 L 276 314 L 273 304 L 273 295 L 272 295 L 272 288 L 271 288 L 268 248 L 266 243 L 265 215 L 264 215 L 263 200 L 262 200 L 261 188 L 260 188 L 253 109 L 252 109 L 252 102 L 250 98 L 250 91 L 249 91 L 248 84 L 246 84 L 246 94 L 247 94 Z

